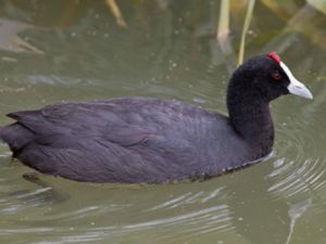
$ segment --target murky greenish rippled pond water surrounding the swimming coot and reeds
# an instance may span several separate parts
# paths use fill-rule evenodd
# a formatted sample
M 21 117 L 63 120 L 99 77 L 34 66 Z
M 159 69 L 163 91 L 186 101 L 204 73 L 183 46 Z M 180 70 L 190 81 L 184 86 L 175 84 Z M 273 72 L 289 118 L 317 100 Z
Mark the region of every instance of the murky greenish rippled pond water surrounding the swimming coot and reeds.
M 226 113 L 236 55 L 225 59 L 215 42 L 218 1 L 118 3 L 127 29 L 104 1 L 0 2 L 1 125 L 11 111 L 122 95 Z M 280 52 L 314 100 L 273 102 L 271 158 L 203 182 L 89 184 L 40 176 L 45 184 L 37 185 L 22 178 L 32 169 L 1 145 L 0 243 L 325 243 L 326 18 L 308 5 L 286 8 L 281 17 L 256 4 L 246 55 Z M 235 53 L 243 15 L 234 9 Z

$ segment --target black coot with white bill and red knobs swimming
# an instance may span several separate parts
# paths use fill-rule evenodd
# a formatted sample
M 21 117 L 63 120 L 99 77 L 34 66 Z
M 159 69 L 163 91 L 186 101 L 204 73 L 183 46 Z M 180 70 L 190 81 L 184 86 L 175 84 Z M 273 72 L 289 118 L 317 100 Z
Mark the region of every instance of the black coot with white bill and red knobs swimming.
M 272 52 L 231 76 L 229 117 L 177 101 L 122 98 L 8 114 L 0 129 L 13 157 L 41 172 L 88 182 L 159 183 L 221 175 L 268 155 L 268 103 L 312 99 Z

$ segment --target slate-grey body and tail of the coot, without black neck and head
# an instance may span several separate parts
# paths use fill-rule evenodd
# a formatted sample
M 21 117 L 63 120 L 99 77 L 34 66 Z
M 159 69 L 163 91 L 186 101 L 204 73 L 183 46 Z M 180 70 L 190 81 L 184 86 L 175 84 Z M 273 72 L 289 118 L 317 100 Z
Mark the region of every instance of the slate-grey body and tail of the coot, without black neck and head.
M 181 102 L 125 98 L 9 116 L 16 123 L 0 137 L 15 157 L 78 181 L 164 182 L 216 175 L 248 159 L 227 117 Z

